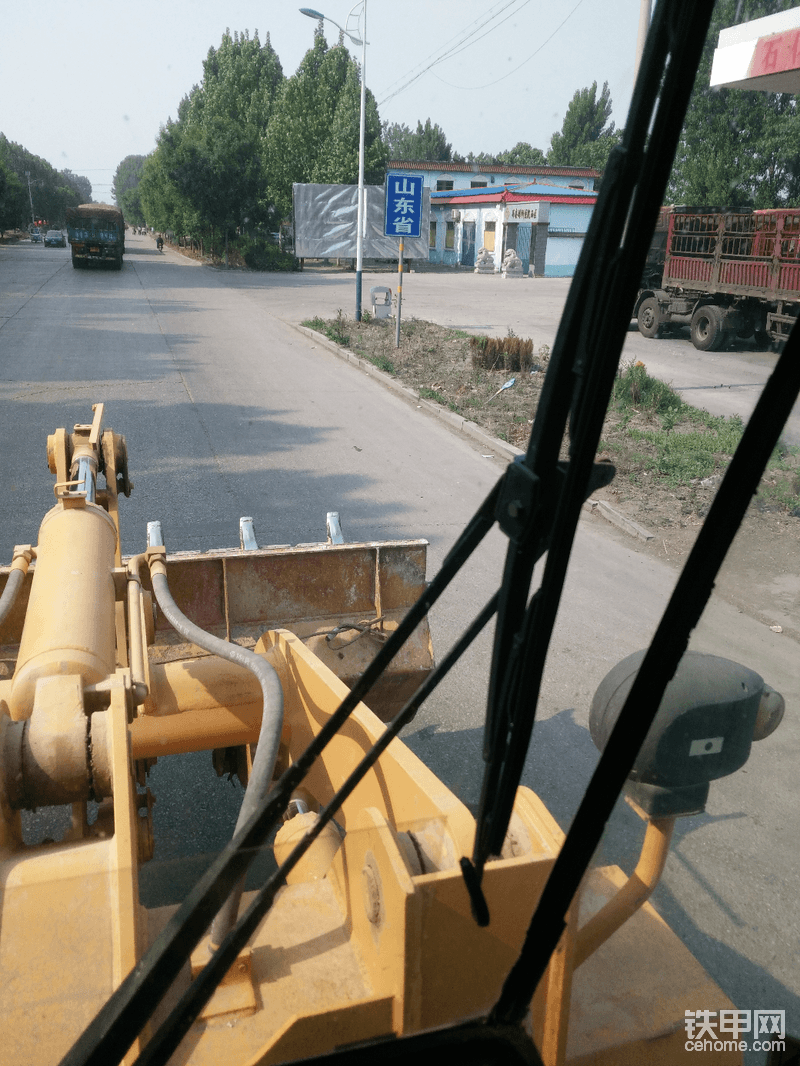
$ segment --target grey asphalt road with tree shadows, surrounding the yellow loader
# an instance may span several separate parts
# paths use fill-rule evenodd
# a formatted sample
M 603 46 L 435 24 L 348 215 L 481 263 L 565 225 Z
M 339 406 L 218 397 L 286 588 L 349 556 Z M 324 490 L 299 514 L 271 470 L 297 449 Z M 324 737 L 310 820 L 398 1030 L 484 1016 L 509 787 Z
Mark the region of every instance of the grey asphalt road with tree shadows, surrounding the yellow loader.
M 154 518 L 167 548 L 205 549 L 235 546 L 244 514 L 254 516 L 260 544 L 324 539 L 325 512 L 338 511 L 349 540 L 427 537 L 432 574 L 503 468 L 295 328 L 339 307 L 349 313 L 352 275 L 226 273 L 159 255 L 149 238 L 128 240 L 121 273 L 74 271 L 68 256 L 38 245 L 0 247 L 6 562 L 14 544 L 35 543 L 52 499 L 47 434 L 89 420 L 97 401 L 107 404 L 106 424 L 128 441 L 135 489 L 123 501 L 125 552 L 142 549 Z M 367 275 L 365 293 L 370 284 L 393 282 Z M 551 344 L 566 288 L 562 279 L 411 274 L 403 314 L 485 333 L 511 327 L 535 346 Z M 676 379 L 710 366 L 688 341 L 631 334 L 624 357 L 650 358 L 653 368 L 655 355 L 640 350 L 658 352 Z M 750 375 L 754 390 L 770 357 L 719 358 L 726 379 Z M 740 401 L 743 390 L 713 388 L 722 372 L 714 366 L 702 389 Z M 694 378 L 685 381 L 693 387 Z M 435 609 L 438 656 L 496 587 L 503 551 L 500 534 L 487 537 Z M 674 574 L 635 544 L 581 521 L 524 778 L 564 827 L 596 761 L 587 730 L 594 690 L 620 659 L 646 645 L 673 584 Z M 737 1006 L 783 1007 L 788 1031 L 798 1033 L 798 648 L 716 600 L 692 646 L 758 671 L 784 693 L 788 711 L 743 770 L 711 786 L 706 812 L 678 823 L 654 902 Z M 486 635 L 405 737 L 470 805 L 479 793 L 489 653 Z M 199 869 L 230 834 L 240 793 L 211 776 L 208 761 L 162 760 L 154 771 L 154 870 L 186 855 Z M 638 819 L 620 805 L 602 860 L 630 870 L 641 836 Z M 144 884 L 145 898 L 149 890 Z

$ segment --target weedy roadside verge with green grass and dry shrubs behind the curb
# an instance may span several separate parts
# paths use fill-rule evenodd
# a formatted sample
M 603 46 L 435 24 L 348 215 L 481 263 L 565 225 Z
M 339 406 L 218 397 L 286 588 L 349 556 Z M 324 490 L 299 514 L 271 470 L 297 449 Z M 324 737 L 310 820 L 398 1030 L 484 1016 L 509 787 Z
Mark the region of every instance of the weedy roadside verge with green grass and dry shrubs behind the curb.
M 394 321 L 348 321 L 341 311 L 333 321 L 315 318 L 303 324 L 399 377 L 420 399 L 525 447 L 549 358 L 546 344 L 534 355 L 533 339 L 510 329 L 502 338 L 476 337 L 412 319 L 402 324 L 400 348 L 395 348 Z M 702 515 L 742 431 L 738 416 L 721 418 L 691 407 L 647 374 L 642 362 L 629 362 L 614 382 L 598 454 L 617 467 L 613 495 L 621 500 L 646 498 L 644 510 L 653 511 L 653 494 L 660 492 L 684 516 Z M 800 449 L 779 446 L 756 507 L 800 516 L 799 456 Z

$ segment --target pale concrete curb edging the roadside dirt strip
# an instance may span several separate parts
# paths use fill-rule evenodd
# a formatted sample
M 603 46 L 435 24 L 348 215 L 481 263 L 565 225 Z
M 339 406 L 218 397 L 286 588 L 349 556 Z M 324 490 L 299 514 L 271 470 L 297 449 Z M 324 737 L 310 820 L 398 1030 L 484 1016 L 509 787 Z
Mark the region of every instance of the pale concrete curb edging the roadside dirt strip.
M 436 418 L 446 422 L 451 429 L 455 430 L 458 433 L 463 433 L 465 436 L 470 437 L 481 447 L 491 449 L 492 452 L 507 458 L 510 463 L 516 458 L 517 455 L 524 455 L 525 453 L 521 448 L 515 448 L 513 445 L 509 445 L 505 440 L 500 440 L 498 437 L 492 437 L 489 433 L 485 433 L 479 425 L 475 422 L 470 422 L 469 419 L 464 418 L 463 415 L 458 415 L 453 410 L 448 410 L 441 404 L 432 403 L 430 400 L 423 400 L 416 389 L 411 388 L 409 385 L 403 385 L 391 374 L 387 374 L 385 370 L 379 370 L 378 367 L 373 366 L 369 359 L 363 359 L 361 356 L 356 355 L 355 352 L 351 352 L 350 349 L 342 348 L 335 341 L 325 337 L 324 334 L 317 333 L 316 329 L 310 329 L 308 326 L 297 325 L 293 322 L 287 323 L 298 333 L 303 334 L 308 337 L 309 340 L 316 341 L 322 348 L 332 352 L 338 358 L 343 359 L 346 362 L 351 362 L 363 370 L 365 374 L 369 374 L 370 377 L 374 377 L 386 388 L 391 389 L 397 395 L 405 400 L 406 403 L 414 404 L 415 407 L 428 411 L 430 415 L 434 415 Z M 653 540 L 655 534 L 651 533 L 650 530 L 644 529 L 643 526 L 639 526 L 631 518 L 626 515 L 621 514 L 615 511 L 610 503 L 606 503 L 605 500 L 587 500 L 583 504 L 583 510 L 589 514 L 598 515 L 605 518 L 606 521 L 615 526 L 617 529 L 622 530 L 627 533 L 628 536 L 636 537 L 638 540 Z

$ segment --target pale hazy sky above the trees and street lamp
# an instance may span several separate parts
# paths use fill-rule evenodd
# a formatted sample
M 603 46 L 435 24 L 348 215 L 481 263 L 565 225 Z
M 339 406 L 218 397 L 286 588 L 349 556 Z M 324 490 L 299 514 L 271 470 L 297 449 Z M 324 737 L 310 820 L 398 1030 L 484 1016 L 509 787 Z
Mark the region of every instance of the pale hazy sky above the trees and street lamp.
M 313 6 L 353 28 L 349 15 L 362 5 Z M 624 126 L 639 9 L 640 0 L 367 0 L 367 86 L 383 122 L 415 128 L 430 118 L 461 155 L 519 141 L 546 152 L 575 92 L 593 81 L 608 81 L 612 120 Z M 84 175 L 94 199 L 111 201 L 116 167 L 155 148 L 226 28 L 257 30 L 262 42 L 269 32 L 289 76 L 315 26 L 285 0 L 6 4 L 0 132 Z M 325 36 L 338 39 L 331 22 Z M 361 47 L 350 47 L 361 61 Z

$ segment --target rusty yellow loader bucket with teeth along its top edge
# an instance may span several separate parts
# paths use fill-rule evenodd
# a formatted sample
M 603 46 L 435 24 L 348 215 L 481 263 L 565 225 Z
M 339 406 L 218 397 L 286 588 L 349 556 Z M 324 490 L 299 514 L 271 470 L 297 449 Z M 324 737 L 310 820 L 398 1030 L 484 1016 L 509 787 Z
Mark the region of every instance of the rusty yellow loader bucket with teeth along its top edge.
M 174 552 L 166 565 L 175 601 L 196 625 L 249 648 L 267 629 L 288 629 L 352 687 L 425 591 L 427 547 L 427 540 L 388 540 Z M 0 628 L 0 677 L 14 673 L 34 569 Z M 0 569 L 0 594 L 9 572 Z M 156 617 L 150 662 L 203 655 Z M 370 709 L 390 721 L 432 667 L 425 620 L 373 688 Z

